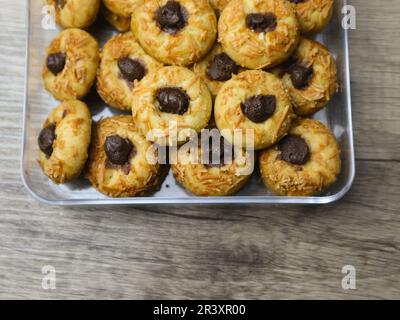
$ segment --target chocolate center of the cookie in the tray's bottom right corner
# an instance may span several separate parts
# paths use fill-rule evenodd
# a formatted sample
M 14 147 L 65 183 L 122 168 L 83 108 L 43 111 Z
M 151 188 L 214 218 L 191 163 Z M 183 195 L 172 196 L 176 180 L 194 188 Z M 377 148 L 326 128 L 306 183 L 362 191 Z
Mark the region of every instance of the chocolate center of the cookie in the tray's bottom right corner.
M 279 159 L 292 164 L 303 165 L 310 159 L 310 149 L 300 136 L 286 136 L 278 143 L 278 149 Z

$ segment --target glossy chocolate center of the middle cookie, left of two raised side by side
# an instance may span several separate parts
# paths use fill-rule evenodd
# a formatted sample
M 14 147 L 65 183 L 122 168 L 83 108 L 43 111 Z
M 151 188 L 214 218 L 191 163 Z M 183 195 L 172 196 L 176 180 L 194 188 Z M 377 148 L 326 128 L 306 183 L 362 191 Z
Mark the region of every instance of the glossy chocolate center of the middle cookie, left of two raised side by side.
M 162 88 L 156 92 L 161 112 L 184 114 L 189 109 L 190 97 L 180 88 Z

